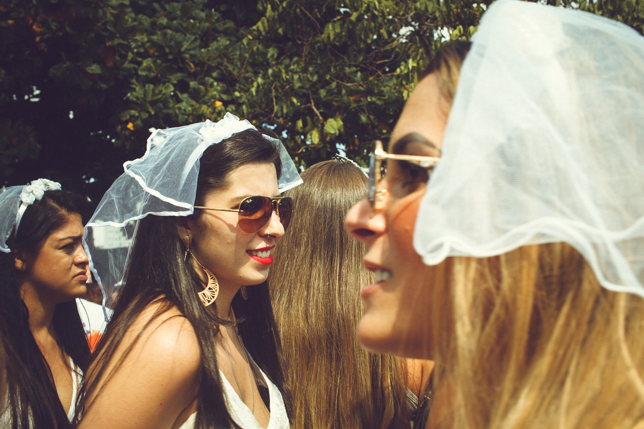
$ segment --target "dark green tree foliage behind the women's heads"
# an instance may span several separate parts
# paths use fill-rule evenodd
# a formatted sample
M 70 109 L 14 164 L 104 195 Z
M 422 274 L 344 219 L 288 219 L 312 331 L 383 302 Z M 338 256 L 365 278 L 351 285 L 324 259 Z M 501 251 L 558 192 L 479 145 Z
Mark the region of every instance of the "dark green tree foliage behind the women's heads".
M 423 64 L 483 0 L 0 0 L 0 179 L 97 203 L 149 129 L 226 111 L 303 167 L 386 140 Z M 541 3 L 546 3 L 542 1 Z M 644 30 L 641 0 L 547 0 Z

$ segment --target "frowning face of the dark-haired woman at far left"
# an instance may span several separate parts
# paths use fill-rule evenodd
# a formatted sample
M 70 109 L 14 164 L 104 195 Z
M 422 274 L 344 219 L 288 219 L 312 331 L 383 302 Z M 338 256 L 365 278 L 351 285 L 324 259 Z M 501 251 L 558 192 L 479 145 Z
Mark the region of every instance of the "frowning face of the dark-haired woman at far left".
M 50 233 L 35 255 L 16 251 L 15 268 L 23 284 L 38 297 L 59 304 L 87 293 L 88 258 L 82 248 L 81 215 L 70 214 L 61 228 Z

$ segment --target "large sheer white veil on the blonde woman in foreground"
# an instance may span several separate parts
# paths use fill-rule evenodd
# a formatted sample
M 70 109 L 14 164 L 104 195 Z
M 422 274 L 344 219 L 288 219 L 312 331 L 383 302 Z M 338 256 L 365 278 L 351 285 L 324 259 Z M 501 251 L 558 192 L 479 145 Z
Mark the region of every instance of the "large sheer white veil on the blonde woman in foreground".
M 567 242 L 644 297 L 644 37 L 498 0 L 462 69 L 414 232 L 428 265 Z

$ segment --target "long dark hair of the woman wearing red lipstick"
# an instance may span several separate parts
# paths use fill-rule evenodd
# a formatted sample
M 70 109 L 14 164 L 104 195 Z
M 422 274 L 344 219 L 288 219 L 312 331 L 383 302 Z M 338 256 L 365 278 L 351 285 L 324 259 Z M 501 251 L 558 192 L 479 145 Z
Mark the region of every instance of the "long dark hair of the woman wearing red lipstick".
M 200 159 L 195 205 L 204 205 L 211 190 L 228 185 L 232 170 L 251 162 L 273 163 L 278 178 L 281 162 L 278 149 L 259 131 L 247 130 L 211 145 Z M 198 215 L 192 215 L 194 217 Z M 229 324 L 211 307 L 205 307 L 197 292 L 204 288 L 193 264 L 184 262 L 185 244 L 175 216 L 148 215 L 138 221 L 124 286 L 115 302 L 113 315 L 100 339 L 90 363 L 86 385 L 81 388 L 78 416 L 92 406 L 88 397 L 100 394 L 100 384 L 109 379 L 126 359 L 138 338 L 153 320 L 176 307 L 190 322 L 198 338 L 201 353 L 201 381 L 198 390 L 196 429 L 238 427 L 226 408 L 222 381 L 216 363 L 215 348 L 218 327 Z M 239 295 L 239 294 L 238 294 Z M 278 387 L 288 403 L 281 372 L 281 343 L 270 307 L 266 282 L 254 286 L 248 300 L 234 299 L 232 307 L 239 316 L 239 332 L 252 358 Z M 115 369 L 106 368 L 115 351 L 140 313 L 153 302 L 162 305 L 140 330 L 137 340 L 128 345 Z

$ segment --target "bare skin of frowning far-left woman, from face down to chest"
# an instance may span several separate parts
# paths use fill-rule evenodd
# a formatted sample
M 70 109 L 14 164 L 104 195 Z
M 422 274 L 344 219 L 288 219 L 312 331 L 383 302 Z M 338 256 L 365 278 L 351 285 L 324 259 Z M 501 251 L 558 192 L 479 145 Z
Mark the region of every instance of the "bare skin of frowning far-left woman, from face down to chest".
M 73 389 L 69 357 L 57 343 L 52 319 L 56 304 L 80 298 L 87 292 L 88 257 L 82 248 L 81 215 L 70 214 L 65 224 L 50 233 L 34 254 L 16 246 L 15 269 L 21 297 L 29 310 L 29 325 L 38 347 L 52 370 L 53 381 L 65 412 Z

